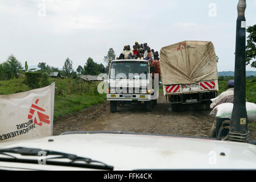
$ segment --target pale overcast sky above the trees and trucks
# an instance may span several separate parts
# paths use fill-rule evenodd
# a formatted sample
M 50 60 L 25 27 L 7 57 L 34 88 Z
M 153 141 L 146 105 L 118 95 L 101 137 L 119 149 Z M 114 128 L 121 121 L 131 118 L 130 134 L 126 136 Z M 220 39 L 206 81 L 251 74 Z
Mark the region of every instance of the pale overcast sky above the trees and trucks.
M 237 1 L 229 0 L 1 0 L 0 62 L 13 54 L 23 65 L 73 68 L 97 63 L 109 48 L 147 42 L 155 51 L 183 40 L 213 42 L 218 71 L 234 71 Z M 256 0 L 247 0 L 246 26 L 256 24 Z M 256 71 L 246 67 L 247 71 Z

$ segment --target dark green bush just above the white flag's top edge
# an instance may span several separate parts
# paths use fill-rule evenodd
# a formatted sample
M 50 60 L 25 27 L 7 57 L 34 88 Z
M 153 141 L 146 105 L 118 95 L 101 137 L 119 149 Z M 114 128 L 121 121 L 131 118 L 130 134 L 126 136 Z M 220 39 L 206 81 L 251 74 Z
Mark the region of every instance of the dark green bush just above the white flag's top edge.
M 40 78 L 42 73 L 38 72 L 26 72 L 24 83 L 31 89 L 40 88 Z

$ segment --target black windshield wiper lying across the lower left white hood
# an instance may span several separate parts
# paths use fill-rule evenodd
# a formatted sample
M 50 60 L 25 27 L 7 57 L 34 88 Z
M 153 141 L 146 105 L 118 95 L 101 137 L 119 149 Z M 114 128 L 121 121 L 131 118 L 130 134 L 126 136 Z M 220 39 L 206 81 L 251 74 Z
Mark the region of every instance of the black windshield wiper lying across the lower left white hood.
M 19 159 L 13 155 L 9 155 L 6 153 L 12 154 L 20 154 L 24 156 L 40 156 L 38 155 L 39 152 L 46 152 L 45 155 L 59 155 L 53 158 L 46 158 L 47 165 L 57 165 L 57 166 L 72 166 L 72 167 L 86 167 L 86 168 L 95 168 L 95 169 L 106 169 L 106 170 L 113 170 L 113 166 L 109 166 L 103 162 L 99 162 L 97 160 L 92 160 L 90 158 L 84 158 L 81 156 L 77 156 L 74 154 L 68 154 L 64 152 L 58 151 L 51 151 L 51 150 L 42 150 L 40 148 L 26 148 L 26 147 L 14 147 L 14 148 L 2 148 L 0 149 L 1 155 L 11 156 L 12 158 L 0 158 L 0 161 L 3 162 L 20 162 L 20 163 L 34 163 L 38 164 L 38 159 Z M 49 159 L 70 159 L 71 162 L 59 162 L 59 161 L 51 161 Z M 82 161 L 85 163 L 75 163 L 77 161 Z M 98 163 L 98 164 L 92 164 Z

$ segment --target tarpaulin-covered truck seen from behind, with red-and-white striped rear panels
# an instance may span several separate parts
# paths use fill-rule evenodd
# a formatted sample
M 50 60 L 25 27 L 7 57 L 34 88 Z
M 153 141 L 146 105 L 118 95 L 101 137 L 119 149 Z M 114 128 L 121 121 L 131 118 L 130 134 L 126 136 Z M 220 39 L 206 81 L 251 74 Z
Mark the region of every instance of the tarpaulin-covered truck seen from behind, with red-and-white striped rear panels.
M 181 104 L 204 103 L 217 97 L 217 59 L 212 42 L 184 41 L 160 50 L 163 92 L 176 111 Z

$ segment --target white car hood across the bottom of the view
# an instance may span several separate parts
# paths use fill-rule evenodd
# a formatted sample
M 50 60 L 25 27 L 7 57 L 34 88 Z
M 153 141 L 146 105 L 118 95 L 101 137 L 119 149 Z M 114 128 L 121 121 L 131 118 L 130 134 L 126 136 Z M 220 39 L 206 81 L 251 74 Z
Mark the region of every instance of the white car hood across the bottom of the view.
M 114 170 L 256 169 L 255 145 L 203 138 L 84 133 L 0 143 L 0 148 L 11 147 L 76 154 L 114 166 Z

